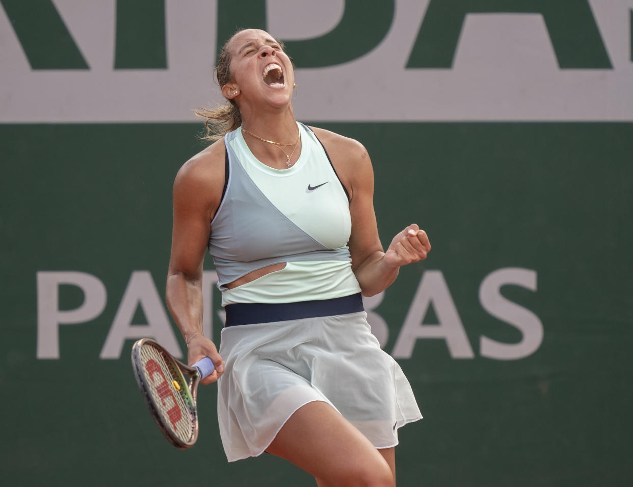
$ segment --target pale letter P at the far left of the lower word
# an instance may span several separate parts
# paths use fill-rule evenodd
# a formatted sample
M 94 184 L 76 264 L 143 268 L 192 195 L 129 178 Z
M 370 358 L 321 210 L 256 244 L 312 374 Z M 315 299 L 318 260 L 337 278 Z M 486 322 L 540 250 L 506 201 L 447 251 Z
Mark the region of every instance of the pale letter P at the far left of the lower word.
M 97 277 L 85 272 L 48 272 L 37 279 L 37 358 L 60 358 L 59 325 L 83 323 L 95 319 L 106 307 L 106 288 Z M 60 285 L 77 286 L 84 302 L 74 310 L 61 311 Z

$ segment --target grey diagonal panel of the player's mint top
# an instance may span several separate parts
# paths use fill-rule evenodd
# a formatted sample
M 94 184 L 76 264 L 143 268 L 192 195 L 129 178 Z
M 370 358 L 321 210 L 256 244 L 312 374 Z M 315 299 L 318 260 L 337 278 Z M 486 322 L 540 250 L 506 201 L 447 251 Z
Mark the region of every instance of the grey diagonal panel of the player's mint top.
M 235 281 L 249 272 L 280 262 L 351 260 L 347 248 L 332 250 L 318 243 L 273 205 L 246 174 L 230 141 L 227 190 L 211 222 L 209 252 L 218 284 Z

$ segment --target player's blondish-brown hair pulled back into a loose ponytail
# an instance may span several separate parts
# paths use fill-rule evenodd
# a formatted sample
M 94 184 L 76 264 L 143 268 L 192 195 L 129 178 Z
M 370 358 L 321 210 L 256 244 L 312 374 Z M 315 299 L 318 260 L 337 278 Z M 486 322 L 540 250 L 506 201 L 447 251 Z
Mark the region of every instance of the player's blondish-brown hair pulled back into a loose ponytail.
M 231 53 L 229 51 L 229 43 L 243 30 L 241 28 L 234 32 L 227 42 L 222 46 L 220 56 L 218 56 L 218 64 L 215 66 L 215 77 L 218 80 L 220 88 L 230 82 L 231 74 Z M 284 49 L 284 43 L 279 42 L 279 46 Z M 206 127 L 206 134 L 200 136 L 200 139 L 208 142 L 215 142 L 222 139 L 225 134 L 238 129 L 242 125 L 242 115 L 239 111 L 239 106 L 232 99 L 227 99 L 227 103 L 217 106 L 216 108 L 197 108 L 194 113 L 200 118 L 204 118 L 204 127 Z

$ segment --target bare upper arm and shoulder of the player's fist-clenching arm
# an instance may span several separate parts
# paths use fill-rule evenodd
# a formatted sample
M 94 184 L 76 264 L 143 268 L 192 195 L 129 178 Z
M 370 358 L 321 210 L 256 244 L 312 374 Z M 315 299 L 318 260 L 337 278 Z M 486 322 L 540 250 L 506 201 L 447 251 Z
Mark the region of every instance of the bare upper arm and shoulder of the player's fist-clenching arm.
M 352 269 L 383 251 L 373 210 L 373 168 L 367 149 L 358 141 L 323 129 L 313 129 L 328 151 L 332 165 L 349 193 Z

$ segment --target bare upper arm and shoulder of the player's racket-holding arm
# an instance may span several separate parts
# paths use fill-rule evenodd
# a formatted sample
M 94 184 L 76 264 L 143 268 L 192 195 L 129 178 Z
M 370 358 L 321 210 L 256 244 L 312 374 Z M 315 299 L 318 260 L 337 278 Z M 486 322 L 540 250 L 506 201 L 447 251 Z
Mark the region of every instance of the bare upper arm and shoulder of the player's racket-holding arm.
M 168 274 L 201 279 L 204 253 L 224 186 L 224 144 L 187 161 L 173 184 L 172 253 Z

